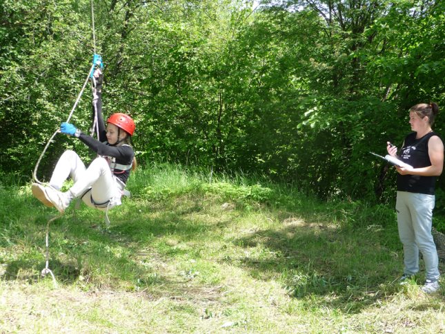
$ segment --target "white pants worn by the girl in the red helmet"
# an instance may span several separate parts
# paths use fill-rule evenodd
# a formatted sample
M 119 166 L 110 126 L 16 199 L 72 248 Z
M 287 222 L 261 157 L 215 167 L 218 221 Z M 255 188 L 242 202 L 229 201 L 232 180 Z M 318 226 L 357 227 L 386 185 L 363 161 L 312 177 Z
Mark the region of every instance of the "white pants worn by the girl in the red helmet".
M 82 196 L 83 202 L 89 207 L 107 209 L 107 206 L 110 208 L 121 204 L 123 185 L 112 175 L 105 158 L 95 158 L 86 168 L 76 152 L 63 152 L 52 172 L 50 185 L 61 189 L 68 177 L 75 182 L 70 188 L 72 196 Z

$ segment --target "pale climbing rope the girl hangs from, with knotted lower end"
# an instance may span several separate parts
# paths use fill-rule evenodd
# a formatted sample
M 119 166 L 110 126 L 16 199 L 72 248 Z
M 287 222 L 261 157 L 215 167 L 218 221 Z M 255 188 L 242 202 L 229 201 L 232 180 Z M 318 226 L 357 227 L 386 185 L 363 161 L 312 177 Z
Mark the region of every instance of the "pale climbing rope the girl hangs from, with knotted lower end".
M 83 94 L 83 91 L 86 88 L 86 85 L 88 84 L 88 80 L 91 79 L 92 81 L 92 85 L 93 85 L 93 92 L 95 92 L 95 87 L 96 87 L 96 81 L 95 81 L 95 77 L 94 77 L 94 71 L 96 67 L 100 67 L 101 69 L 103 68 L 103 62 L 102 62 L 102 57 L 99 54 L 96 54 L 96 35 L 95 35 L 95 14 L 94 14 L 94 6 L 93 6 L 93 0 L 90 0 L 91 3 L 91 21 L 92 21 L 92 39 L 93 39 L 93 59 L 92 59 L 92 65 L 90 68 L 90 71 L 88 72 L 88 75 L 86 76 L 85 82 L 83 83 L 81 90 L 79 92 L 79 95 L 76 98 L 76 101 L 74 103 L 74 105 L 72 105 L 72 109 L 70 111 L 70 114 L 68 115 L 68 118 L 66 120 L 66 123 L 70 122 L 70 118 L 72 116 L 72 114 L 74 114 L 75 109 L 77 107 L 77 104 L 80 101 L 80 98 Z M 96 98 L 96 103 L 97 103 L 97 98 Z M 99 138 L 99 129 L 96 126 L 97 125 L 97 105 L 96 103 L 94 103 L 94 99 L 93 99 L 93 105 L 95 107 L 95 120 L 93 123 L 93 127 L 92 127 L 92 133 L 94 132 L 95 127 L 97 128 L 97 138 Z M 59 133 L 60 130 L 57 129 L 54 134 L 52 134 L 50 140 L 48 140 L 48 143 L 46 143 L 46 146 L 43 148 L 43 152 L 41 153 L 41 155 L 39 156 L 39 159 L 37 160 L 37 163 L 34 167 L 34 171 L 32 173 L 32 178 L 35 182 L 39 183 L 40 185 L 43 185 L 43 182 L 41 182 L 39 180 L 39 178 L 37 178 L 37 170 L 39 169 L 39 165 L 41 162 L 41 159 L 43 158 L 43 156 L 46 153 L 46 150 L 48 149 L 48 147 L 50 146 L 50 143 L 52 143 L 52 140 L 54 139 L 54 137 L 56 136 L 57 133 Z M 46 225 L 46 267 L 41 271 L 41 275 L 42 277 L 45 277 L 46 275 L 48 275 L 48 273 L 51 275 L 52 277 L 52 282 L 54 283 L 55 287 L 57 287 L 57 281 L 55 278 L 54 273 L 52 273 L 51 269 L 49 268 L 49 260 L 50 260 L 50 251 L 49 251 L 49 234 L 50 234 L 50 223 L 53 220 L 56 220 L 57 218 L 61 218 L 61 216 L 56 216 L 54 218 L 51 218 L 50 220 L 48 220 L 48 224 Z M 109 225 L 109 220 L 108 220 L 108 216 L 106 217 L 106 220 L 108 221 L 108 225 Z

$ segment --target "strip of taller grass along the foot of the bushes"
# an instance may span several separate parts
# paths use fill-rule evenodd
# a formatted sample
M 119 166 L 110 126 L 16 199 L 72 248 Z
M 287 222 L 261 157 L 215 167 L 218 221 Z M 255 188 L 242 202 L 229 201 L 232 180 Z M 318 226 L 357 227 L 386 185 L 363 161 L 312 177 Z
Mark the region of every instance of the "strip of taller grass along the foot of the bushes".
M 318 200 L 310 191 L 301 191 L 297 183 L 273 182 L 261 174 L 246 175 L 242 171 L 214 174 L 195 167 L 151 163 L 132 175 L 128 188 L 137 198 L 161 200 L 194 194 L 217 196 L 223 202 L 239 207 L 267 206 L 299 211 L 301 215 L 320 214 L 339 227 L 387 227 L 395 222 L 395 210 L 388 205 L 362 201 Z

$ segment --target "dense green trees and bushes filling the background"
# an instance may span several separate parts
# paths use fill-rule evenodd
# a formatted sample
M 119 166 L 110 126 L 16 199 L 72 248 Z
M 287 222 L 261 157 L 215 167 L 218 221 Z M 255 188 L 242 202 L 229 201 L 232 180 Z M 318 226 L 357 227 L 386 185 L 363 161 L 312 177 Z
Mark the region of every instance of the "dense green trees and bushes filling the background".
M 445 105 L 444 1 L 262 2 L 94 1 L 105 116 L 135 118 L 142 165 L 255 171 L 320 198 L 391 202 L 393 169 L 368 152 L 402 143 L 411 105 Z M 3 1 L 0 13 L 0 171 L 26 179 L 89 70 L 90 1 Z M 87 87 L 72 117 L 84 131 L 90 101 Z M 89 156 L 57 135 L 41 178 L 67 147 Z

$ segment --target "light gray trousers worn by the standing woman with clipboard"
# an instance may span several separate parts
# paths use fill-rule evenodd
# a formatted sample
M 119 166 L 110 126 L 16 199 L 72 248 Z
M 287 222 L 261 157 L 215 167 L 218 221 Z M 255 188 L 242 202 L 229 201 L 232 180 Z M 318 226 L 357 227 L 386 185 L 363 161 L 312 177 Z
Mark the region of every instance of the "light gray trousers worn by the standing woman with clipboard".
M 397 226 L 404 245 L 404 273 L 419 271 L 419 251 L 425 262 L 426 279 L 439 278 L 439 259 L 431 234 L 435 196 L 397 191 Z

